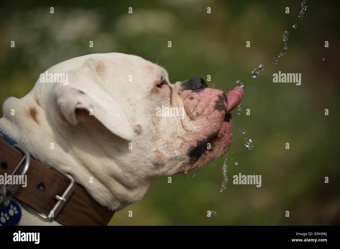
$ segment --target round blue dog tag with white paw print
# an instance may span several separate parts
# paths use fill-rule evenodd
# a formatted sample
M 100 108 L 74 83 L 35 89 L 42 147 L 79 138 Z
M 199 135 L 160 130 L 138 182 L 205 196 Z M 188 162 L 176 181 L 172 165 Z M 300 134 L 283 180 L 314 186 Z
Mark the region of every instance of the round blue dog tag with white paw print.
M 19 204 L 10 200 L 10 205 L 5 206 L 4 202 L 0 204 L 0 226 L 15 226 L 21 218 L 21 208 Z

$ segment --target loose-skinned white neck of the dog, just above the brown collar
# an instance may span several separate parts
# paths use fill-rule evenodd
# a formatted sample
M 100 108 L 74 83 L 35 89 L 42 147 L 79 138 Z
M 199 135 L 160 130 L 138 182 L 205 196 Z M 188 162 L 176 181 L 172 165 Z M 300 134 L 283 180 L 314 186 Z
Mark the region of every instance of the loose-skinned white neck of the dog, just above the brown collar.
M 41 163 L 73 176 L 109 209 L 120 210 L 141 199 L 150 182 L 138 179 L 133 172 L 122 173 L 119 151 L 115 151 L 119 138 L 108 134 L 94 118 L 77 126 L 63 123 L 60 113 L 47 101 L 35 98 L 33 91 L 21 99 L 8 98 L 3 104 L 0 131 Z

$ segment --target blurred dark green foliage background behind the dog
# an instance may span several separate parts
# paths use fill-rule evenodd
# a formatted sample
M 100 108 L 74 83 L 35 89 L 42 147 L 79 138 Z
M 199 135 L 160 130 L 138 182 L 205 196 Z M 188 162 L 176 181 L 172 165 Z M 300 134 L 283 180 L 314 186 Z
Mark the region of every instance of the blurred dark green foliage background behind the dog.
M 26 95 L 50 66 L 91 53 L 135 54 L 152 62 L 159 58 L 172 83 L 211 75 L 208 84 L 224 91 L 238 79 L 245 84 L 243 114 L 233 111 L 229 152 L 235 154 L 228 158 L 226 190 L 219 191 L 222 158 L 195 178 L 154 181 L 140 202 L 117 212 L 109 225 L 340 223 L 338 3 L 308 1 L 300 20 L 301 1 L 34 2 L 1 3 L 1 103 Z M 128 14 L 130 6 L 133 14 Z M 287 6 L 290 14 L 285 14 Z M 285 30 L 290 32 L 288 52 L 273 65 Z M 260 63 L 266 69 L 253 79 L 251 71 Z M 302 84 L 273 83 L 278 71 L 301 73 Z M 245 137 L 252 138 L 252 151 L 244 147 Z M 262 187 L 233 185 L 233 175 L 240 172 L 262 175 Z M 217 215 L 208 218 L 207 210 Z

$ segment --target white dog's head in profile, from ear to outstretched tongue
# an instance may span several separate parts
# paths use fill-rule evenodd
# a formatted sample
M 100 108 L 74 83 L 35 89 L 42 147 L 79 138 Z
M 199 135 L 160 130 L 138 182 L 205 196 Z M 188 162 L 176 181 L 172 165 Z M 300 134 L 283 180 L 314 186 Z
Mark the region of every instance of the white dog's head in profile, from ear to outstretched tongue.
M 200 77 L 171 84 L 162 67 L 134 55 L 79 58 L 68 84 L 53 86 L 51 116 L 72 131 L 75 154 L 89 171 L 102 182 L 109 177 L 125 186 L 108 183 L 115 195 L 155 178 L 197 171 L 231 145 L 230 112 L 242 88 L 225 94 Z M 141 192 L 146 190 L 133 196 Z M 135 197 L 130 199 L 140 198 Z

